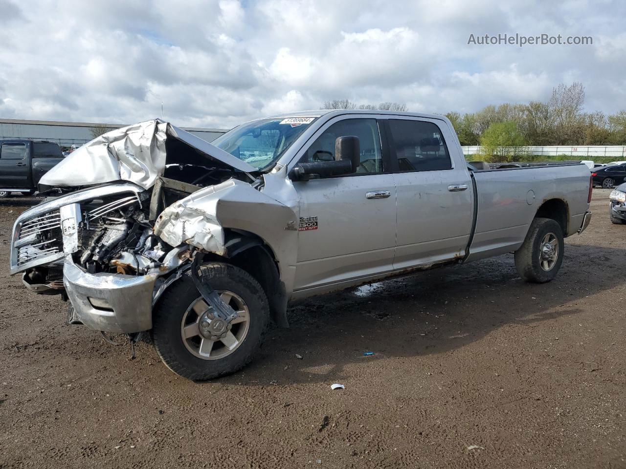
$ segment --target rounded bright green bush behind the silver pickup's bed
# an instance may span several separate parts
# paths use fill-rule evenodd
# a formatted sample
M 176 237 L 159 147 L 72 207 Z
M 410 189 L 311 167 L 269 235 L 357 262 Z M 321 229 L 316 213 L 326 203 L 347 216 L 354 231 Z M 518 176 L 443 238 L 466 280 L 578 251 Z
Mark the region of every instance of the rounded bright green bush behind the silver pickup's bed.
M 480 136 L 482 158 L 490 163 L 515 161 L 525 155 L 526 139 L 513 121 L 494 122 Z

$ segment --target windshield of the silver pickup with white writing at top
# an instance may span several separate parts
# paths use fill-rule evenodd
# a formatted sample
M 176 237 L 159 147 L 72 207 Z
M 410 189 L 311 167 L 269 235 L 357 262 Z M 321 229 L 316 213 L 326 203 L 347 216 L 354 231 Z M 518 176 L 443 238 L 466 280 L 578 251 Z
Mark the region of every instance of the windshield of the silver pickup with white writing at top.
M 211 143 L 258 169 L 278 161 L 317 117 L 259 119 L 240 125 Z

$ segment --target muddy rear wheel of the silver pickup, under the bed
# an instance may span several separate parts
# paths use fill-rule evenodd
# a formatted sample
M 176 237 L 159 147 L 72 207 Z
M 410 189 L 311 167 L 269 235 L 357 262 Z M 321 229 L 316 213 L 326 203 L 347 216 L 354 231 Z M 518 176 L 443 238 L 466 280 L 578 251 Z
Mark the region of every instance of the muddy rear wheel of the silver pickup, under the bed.
M 522 280 L 545 283 L 558 273 L 563 262 L 563 231 L 550 218 L 535 218 L 526 239 L 515 252 L 515 268 Z

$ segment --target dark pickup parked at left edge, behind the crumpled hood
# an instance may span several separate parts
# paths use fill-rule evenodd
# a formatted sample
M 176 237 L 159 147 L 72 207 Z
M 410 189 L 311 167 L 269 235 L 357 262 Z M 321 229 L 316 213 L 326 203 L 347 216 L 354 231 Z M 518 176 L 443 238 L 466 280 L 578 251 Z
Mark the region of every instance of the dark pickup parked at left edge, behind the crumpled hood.
M 0 140 L 0 197 L 32 194 L 41 176 L 63 160 L 58 144 L 46 140 Z

